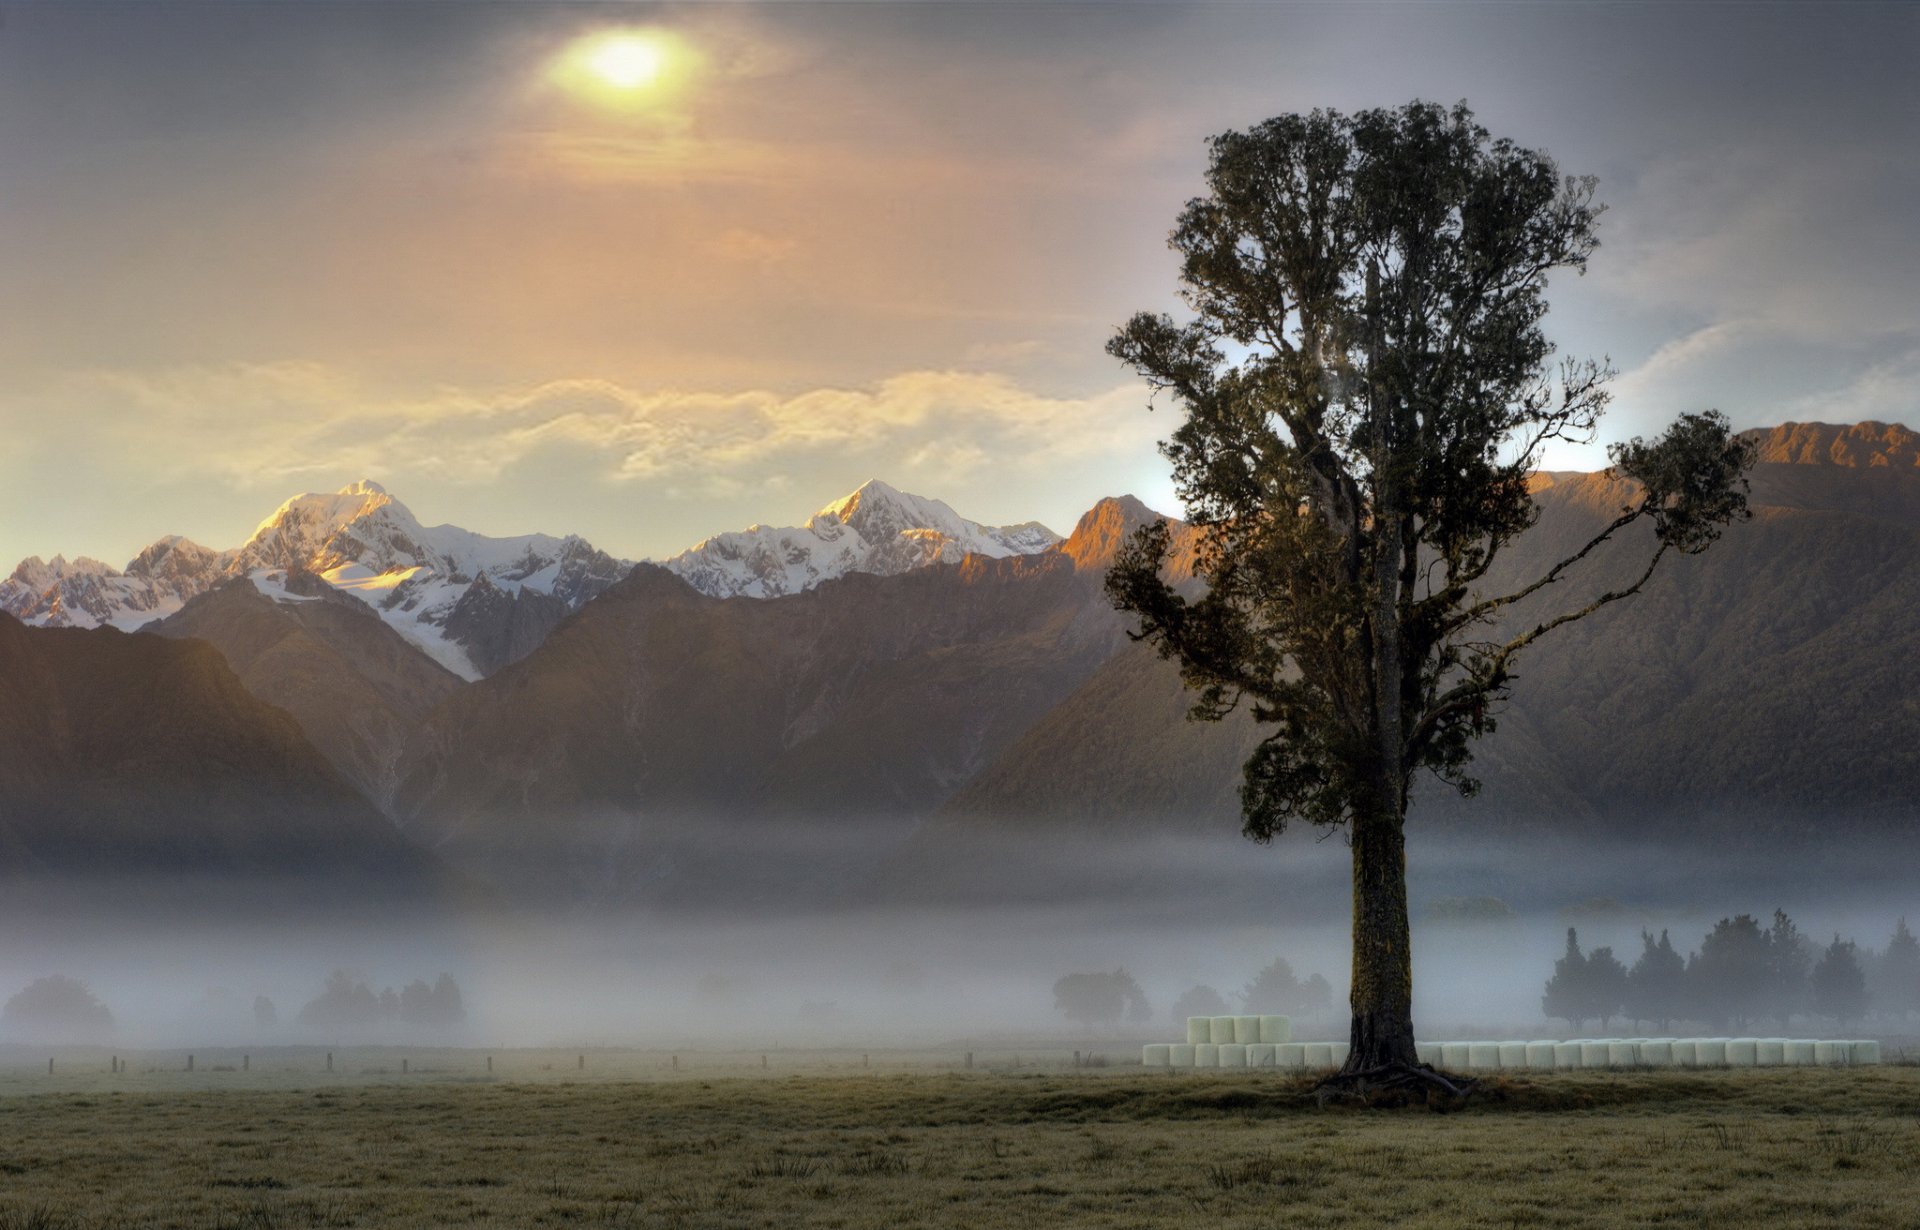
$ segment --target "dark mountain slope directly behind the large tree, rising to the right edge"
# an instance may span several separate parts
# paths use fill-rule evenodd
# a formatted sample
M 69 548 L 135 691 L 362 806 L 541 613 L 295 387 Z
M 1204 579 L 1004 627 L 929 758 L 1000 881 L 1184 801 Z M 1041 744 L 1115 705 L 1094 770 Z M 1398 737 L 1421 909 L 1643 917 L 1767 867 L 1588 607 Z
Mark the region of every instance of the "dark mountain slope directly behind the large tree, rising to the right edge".
M 1862 451 L 1880 441 L 1882 453 Z M 1755 520 L 1670 558 L 1630 603 L 1561 629 L 1521 664 L 1476 745 L 1480 798 L 1423 783 L 1415 816 L 1555 831 L 1789 831 L 1920 819 L 1920 470 L 1899 428 L 1763 434 Z M 1891 461 L 1874 462 L 1876 455 Z M 1837 464 L 1834 459 L 1847 459 Z M 1555 476 L 1540 524 L 1490 589 L 1538 576 L 1628 497 Z M 1647 543 L 1515 614 L 1630 576 Z M 929 837 L 987 831 L 1233 831 L 1248 721 L 1194 725 L 1171 666 L 1131 647 L 947 804 Z

